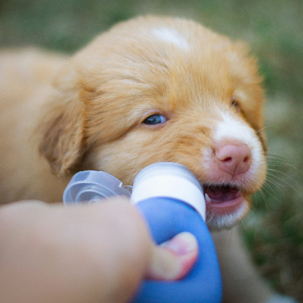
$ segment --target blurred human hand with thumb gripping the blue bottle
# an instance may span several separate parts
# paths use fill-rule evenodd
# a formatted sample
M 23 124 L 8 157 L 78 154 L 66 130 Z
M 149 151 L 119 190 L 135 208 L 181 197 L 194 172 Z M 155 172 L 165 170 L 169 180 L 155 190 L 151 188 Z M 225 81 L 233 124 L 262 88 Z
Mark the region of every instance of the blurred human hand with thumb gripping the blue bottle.
M 7 303 L 127 302 L 143 278 L 179 279 L 196 257 L 188 233 L 156 246 L 124 198 L 0 208 L 0 293 Z

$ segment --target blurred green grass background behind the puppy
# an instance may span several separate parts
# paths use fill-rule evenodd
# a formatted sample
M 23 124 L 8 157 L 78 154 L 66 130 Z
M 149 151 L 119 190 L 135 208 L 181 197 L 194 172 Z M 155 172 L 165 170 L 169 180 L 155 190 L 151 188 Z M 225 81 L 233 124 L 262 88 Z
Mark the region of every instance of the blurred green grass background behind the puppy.
M 1 0 L 0 46 L 73 53 L 100 31 L 137 15 L 194 19 L 246 40 L 267 89 L 268 180 L 243 221 L 262 274 L 303 302 L 302 0 Z

